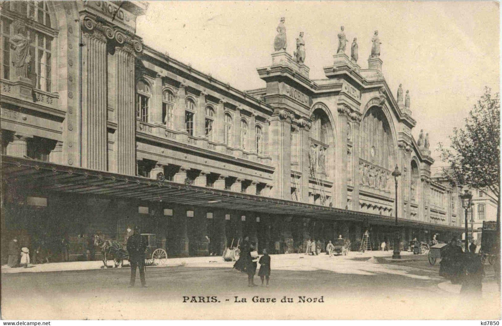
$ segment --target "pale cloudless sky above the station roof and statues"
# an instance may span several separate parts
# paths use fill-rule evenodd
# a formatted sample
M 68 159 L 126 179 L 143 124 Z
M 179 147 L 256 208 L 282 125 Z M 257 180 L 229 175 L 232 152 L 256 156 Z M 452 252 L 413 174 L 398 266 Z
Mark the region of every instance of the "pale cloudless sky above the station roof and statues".
M 383 73 L 394 96 L 410 90 L 412 134 L 429 132 L 435 166 L 438 142 L 449 144 L 484 87 L 500 88 L 499 5 L 496 2 L 408 1 L 156 1 L 138 18 L 145 44 L 194 69 L 247 90 L 265 87 L 256 68 L 272 63 L 273 41 L 286 18 L 288 48 L 304 32 L 310 78 L 325 78 L 340 26 L 357 37 L 358 64 L 367 68 L 371 37 L 379 31 Z

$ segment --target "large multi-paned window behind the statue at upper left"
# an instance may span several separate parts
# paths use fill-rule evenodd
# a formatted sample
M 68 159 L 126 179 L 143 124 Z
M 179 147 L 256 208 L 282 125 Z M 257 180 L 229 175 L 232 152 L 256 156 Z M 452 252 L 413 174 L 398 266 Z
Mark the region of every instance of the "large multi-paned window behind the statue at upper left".
M 2 11 L 26 19 L 15 22 L 0 17 L 0 78 L 29 78 L 35 88 L 51 92 L 53 37 L 47 2 L 8 1 L 3 3 Z M 29 26 L 26 21 L 30 21 Z

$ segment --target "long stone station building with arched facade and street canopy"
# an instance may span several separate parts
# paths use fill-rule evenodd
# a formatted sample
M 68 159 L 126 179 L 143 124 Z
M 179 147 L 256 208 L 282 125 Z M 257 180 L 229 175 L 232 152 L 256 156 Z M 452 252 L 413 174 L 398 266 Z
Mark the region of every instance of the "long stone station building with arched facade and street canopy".
M 405 246 L 461 234 L 459 190 L 431 176 L 380 58 L 326 58 L 315 80 L 273 52 L 257 69 L 264 87 L 238 90 L 144 44 L 147 10 L 2 4 L 4 248 L 67 237 L 81 259 L 96 232 L 140 225 L 169 256 L 221 254 L 244 235 L 272 253 L 338 235 L 356 250 L 366 230 L 376 249 L 396 214 Z

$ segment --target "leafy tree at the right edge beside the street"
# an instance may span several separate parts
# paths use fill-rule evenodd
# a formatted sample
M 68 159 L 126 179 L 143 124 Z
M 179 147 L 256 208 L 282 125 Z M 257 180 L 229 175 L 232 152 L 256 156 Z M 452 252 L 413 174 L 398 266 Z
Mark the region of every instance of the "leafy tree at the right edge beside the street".
M 500 94 L 485 87 L 465 127 L 453 128 L 451 145 L 439 144 L 444 173 L 457 185 L 477 189 L 497 202 L 497 249 L 500 248 Z M 497 264 L 500 262 L 498 261 Z M 499 265 L 498 265 L 499 266 Z M 500 276 L 498 275 L 498 278 Z

